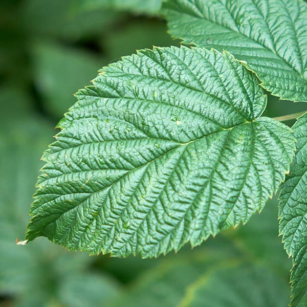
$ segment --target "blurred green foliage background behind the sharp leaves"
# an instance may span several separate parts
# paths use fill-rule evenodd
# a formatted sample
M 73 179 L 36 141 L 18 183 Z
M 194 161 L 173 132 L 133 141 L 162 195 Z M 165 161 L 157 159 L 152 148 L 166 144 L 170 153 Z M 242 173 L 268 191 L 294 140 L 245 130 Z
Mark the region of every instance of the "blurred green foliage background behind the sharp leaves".
M 0 305 L 286 306 L 291 260 L 278 237 L 276 199 L 246 226 L 158 259 L 89 257 L 46 238 L 16 246 L 39 158 L 73 93 L 121 56 L 180 42 L 166 33 L 160 0 L 0 3 Z M 269 96 L 265 115 L 304 109 Z

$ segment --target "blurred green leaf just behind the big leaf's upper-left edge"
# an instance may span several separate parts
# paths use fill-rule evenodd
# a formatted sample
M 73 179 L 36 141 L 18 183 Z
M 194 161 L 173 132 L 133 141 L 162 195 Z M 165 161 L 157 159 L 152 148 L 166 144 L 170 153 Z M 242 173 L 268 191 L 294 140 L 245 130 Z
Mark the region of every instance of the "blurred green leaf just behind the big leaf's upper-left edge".
M 31 58 L 34 82 L 42 95 L 43 107 L 61 117 L 74 104 L 80 87 L 90 85 L 103 57 L 83 49 L 40 44 L 33 47 Z

